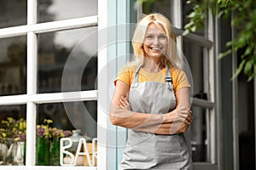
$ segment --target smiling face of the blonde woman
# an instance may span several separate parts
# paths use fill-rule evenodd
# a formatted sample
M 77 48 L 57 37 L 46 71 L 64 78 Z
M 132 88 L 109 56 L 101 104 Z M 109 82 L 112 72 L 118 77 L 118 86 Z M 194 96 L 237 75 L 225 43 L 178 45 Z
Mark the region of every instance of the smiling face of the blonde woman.
M 144 55 L 148 59 L 160 59 L 166 54 L 167 36 L 162 26 L 148 25 L 143 41 Z

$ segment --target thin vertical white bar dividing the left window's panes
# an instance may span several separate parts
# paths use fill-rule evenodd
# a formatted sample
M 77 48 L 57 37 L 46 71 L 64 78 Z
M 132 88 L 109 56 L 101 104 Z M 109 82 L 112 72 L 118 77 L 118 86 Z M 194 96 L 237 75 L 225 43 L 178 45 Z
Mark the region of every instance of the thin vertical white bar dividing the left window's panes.
M 27 1 L 27 25 L 36 24 L 37 1 Z M 37 35 L 27 32 L 27 82 L 26 93 L 37 93 L 38 53 Z M 33 102 L 26 104 L 26 166 L 33 166 L 36 162 L 36 116 L 37 105 Z

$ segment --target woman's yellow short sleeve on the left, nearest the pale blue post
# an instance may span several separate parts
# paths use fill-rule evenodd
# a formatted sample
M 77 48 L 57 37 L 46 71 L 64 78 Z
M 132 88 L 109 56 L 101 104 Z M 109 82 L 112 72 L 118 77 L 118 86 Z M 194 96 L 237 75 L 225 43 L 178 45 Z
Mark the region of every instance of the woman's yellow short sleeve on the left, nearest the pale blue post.
M 120 80 L 125 82 L 129 87 L 131 86 L 131 82 L 135 73 L 135 67 L 130 65 L 125 65 L 121 71 L 119 71 L 118 76 L 114 79 L 114 85 L 116 81 Z

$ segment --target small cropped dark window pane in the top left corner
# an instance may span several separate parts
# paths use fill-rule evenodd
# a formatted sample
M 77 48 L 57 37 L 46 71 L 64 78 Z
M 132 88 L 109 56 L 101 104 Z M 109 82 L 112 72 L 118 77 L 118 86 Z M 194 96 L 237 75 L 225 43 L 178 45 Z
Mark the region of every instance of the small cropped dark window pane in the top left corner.
M 0 28 L 26 25 L 26 0 L 1 1 Z

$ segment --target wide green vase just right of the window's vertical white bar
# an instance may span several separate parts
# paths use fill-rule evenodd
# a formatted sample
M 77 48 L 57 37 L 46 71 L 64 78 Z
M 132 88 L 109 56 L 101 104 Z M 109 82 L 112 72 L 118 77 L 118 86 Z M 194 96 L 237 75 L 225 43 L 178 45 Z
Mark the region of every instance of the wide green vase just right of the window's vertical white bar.
M 49 139 L 37 138 L 37 165 L 49 166 Z

